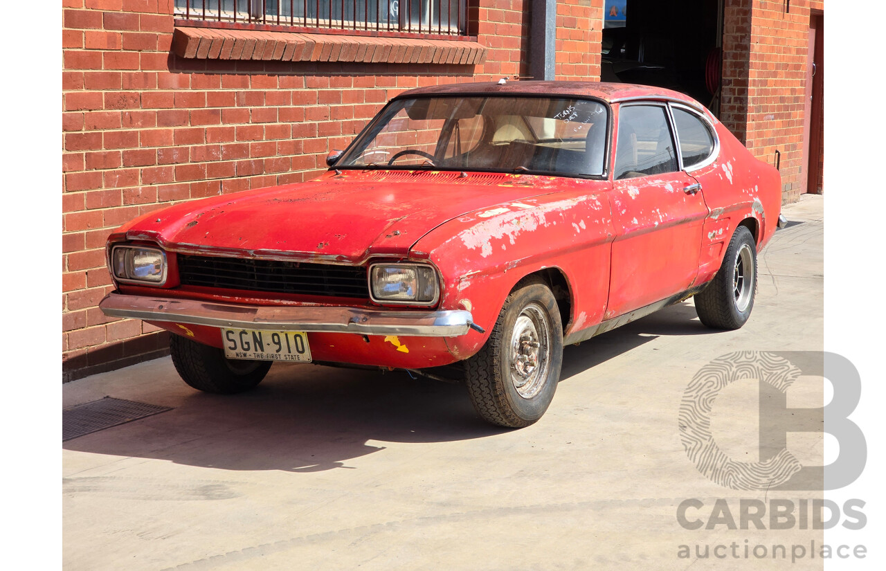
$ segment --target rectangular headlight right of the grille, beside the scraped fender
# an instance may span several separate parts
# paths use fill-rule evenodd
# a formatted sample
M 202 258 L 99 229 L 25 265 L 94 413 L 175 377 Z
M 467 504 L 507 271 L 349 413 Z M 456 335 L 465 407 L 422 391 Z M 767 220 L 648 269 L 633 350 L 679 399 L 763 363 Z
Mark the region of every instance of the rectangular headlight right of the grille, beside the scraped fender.
M 433 305 L 437 303 L 437 273 L 418 264 L 375 264 L 369 268 L 372 300 L 379 303 Z

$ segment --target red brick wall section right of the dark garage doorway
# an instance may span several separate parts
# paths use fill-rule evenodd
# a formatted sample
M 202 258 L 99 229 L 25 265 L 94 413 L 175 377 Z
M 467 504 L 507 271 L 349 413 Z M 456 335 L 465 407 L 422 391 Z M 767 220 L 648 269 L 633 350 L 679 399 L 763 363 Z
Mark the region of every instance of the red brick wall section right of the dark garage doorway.
M 774 164 L 780 151 L 784 202 L 797 201 L 805 191 L 800 170 L 806 168 L 810 11 L 823 8 L 823 0 L 726 0 L 721 120 L 758 158 Z

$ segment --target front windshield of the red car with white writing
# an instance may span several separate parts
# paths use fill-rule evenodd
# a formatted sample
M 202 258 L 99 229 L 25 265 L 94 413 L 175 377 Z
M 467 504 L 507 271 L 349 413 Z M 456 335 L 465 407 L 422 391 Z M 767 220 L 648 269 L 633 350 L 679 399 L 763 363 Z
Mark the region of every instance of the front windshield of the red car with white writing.
M 606 123 L 606 106 L 587 99 L 400 99 L 385 108 L 336 168 L 602 175 Z

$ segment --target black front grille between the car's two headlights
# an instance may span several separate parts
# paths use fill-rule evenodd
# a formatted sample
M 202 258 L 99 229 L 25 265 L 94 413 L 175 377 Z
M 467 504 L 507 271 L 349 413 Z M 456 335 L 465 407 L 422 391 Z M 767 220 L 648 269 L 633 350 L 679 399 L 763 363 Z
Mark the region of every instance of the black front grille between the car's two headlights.
M 369 297 L 366 268 L 272 259 L 178 256 L 182 285 L 306 296 Z

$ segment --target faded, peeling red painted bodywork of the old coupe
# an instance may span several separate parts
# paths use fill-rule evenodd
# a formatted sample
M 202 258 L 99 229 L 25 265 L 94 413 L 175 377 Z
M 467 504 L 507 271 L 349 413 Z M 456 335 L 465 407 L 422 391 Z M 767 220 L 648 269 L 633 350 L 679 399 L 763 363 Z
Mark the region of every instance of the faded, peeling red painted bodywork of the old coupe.
M 675 92 L 622 84 L 519 82 L 416 89 L 424 93 L 544 93 L 594 96 L 610 104 L 670 98 Z M 433 367 L 467 359 L 486 342 L 511 289 L 554 268 L 568 283 L 564 334 L 592 332 L 638 308 L 711 280 L 739 224 L 756 228 L 761 249 L 781 210 L 779 175 L 750 155 L 707 114 L 719 157 L 703 169 L 624 181 L 533 174 L 330 171 L 300 184 L 178 204 L 129 222 L 110 243 L 157 243 L 170 255 L 162 295 L 254 305 L 349 304 L 366 300 L 281 296 L 176 287 L 175 253 L 275 258 L 365 266 L 375 260 L 427 260 L 442 277 L 440 310 L 467 309 L 486 334 L 400 337 L 309 333 L 314 359 L 381 367 Z M 615 138 L 610 149 L 615 148 Z M 613 155 L 610 153 L 612 172 Z M 699 182 L 695 195 L 684 191 Z M 158 289 L 120 287 L 123 294 Z M 400 306 L 397 309 L 402 310 Z M 425 308 L 426 309 L 426 308 Z M 611 323 L 611 322 L 610 322 Z M 221 346 L 219 329 L 155 325 Z M 187 328 L 187 331 L 183 330 Z M 368 340 L 368 341 L 367 341 Z M 402 351 L 406 346 L 408 351 Z

